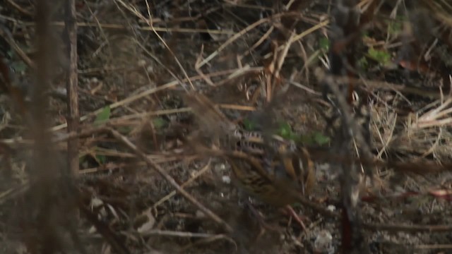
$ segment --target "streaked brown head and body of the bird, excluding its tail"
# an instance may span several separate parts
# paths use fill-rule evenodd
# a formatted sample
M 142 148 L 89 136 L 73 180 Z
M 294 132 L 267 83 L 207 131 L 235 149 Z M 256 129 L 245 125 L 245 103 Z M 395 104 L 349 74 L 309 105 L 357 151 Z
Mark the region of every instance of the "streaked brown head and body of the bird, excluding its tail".
M 246 193 L 275 207 L 290 205 L 297 195 L 310 193 L 315 183 L 314 162 L 304 147 L 277 135 L 270 144 L 258 132 L 242 135 L 227 162 Z

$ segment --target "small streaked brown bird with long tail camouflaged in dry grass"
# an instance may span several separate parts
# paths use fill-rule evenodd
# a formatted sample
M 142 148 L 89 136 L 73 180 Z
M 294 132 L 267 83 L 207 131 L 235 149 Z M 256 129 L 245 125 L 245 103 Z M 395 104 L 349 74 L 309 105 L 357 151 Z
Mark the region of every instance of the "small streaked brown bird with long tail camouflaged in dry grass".
M 184 101 L 201 125 L 222 140 L 217 154 L 230 164 L 236 185 L 268 205 L 287 208 L 295 217 L 290 205 L 299 195 L 309 195 L 316 183 L 309 151 L 279 135 L 267 137 L 261 131 L 240 128 L 201 93 L 187 92 Z M 298 217 L 295 220 L 304 228 Z

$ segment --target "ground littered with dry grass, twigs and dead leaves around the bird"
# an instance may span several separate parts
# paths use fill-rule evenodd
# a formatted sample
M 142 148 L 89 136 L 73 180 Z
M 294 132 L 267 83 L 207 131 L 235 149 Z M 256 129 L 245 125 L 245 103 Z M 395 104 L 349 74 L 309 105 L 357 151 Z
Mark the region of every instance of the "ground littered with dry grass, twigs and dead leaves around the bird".
M 80 170 L 73 177 L 61 173 L 68 139 L 64 69 L 70 59 L 61 40 L 64 8 L 54 6 L 50 41 L 57 45 L 57 57 L 49 57 L 50 123 L 45 124 L 52 133 L 49 159 L 59 173 L 36 180 L 42 178 L 33 164 L 33 125 L 5 92 L 0 101 L 0 250 L 340 252 L 343 225 L 337 216 L 343 202 L 339 161 L 331 152 L 338 136 L 328 127 L 345 123 L 325 119 L 340 106 L 323 96 L 326 87 L 318 75 L 335 64 L 331 55 L 339 45 L 332 31 L 340 22 L 326 23 L 335 15 L 330 4 L 76 1 L 80 129 L 85 134 L 78 137 Z M 443 1 L 403 8 L 383 3 L 372 15 L 363 11 L 361 20 L 371 21 L 351 37 L 355 80 L 349 81 L 368 111 L 371 152 L 381 162 L 362 162 L 371 174 L 359 186 L 356 207 L 371 253 L 452 249 L 447 10 L 451 6 Z M 1 33 L 0 54 L 27 109 L 34 107 L 35 73 L 29 64 L 36 57 L 34 11 L 29 1 L 0 1 L 1 30 L 11 33 Z M 425 23 L 419 23 L 421 18 Z M 343 52 L 350 56 L 349 49 Z M 2 75 L 0 82 L 6 82 Z M 244 128 L 284 132 L 302 146 L 326 151 L 327 156 L 313 157 L 316 186 L 307 198 L 330 215 L 295 203 L 294 210 L 306 218 L 303 230 L 278 207 L 244 193 L 225 159 L 187 145 L 198 129 L 215 133 L 214 126 L 202 126 L 191 114 L 182 99 L 188 91 L 206 95 Z M 362 144 L 356 143 L 350 151 L 359 150 Z M 264 229 L 259 218 L 277 230 Z

